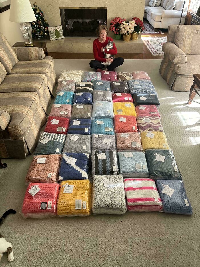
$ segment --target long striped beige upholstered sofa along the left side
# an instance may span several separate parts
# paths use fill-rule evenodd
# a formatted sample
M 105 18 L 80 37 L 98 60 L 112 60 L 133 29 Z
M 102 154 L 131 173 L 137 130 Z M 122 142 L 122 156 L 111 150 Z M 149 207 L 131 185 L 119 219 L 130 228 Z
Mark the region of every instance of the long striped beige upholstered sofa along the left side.
M 0 33 L 0 157 L 33 153 L 56 84 L 54 60 L 41 48 L 12 48 Z

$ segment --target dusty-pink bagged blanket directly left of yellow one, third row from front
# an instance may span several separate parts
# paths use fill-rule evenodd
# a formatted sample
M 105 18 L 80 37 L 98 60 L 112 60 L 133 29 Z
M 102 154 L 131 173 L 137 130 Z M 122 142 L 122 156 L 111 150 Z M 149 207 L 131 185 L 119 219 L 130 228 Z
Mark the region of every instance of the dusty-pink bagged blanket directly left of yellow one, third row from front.
M 142 151 L 139 132 L 116 133 L 117 150 Z

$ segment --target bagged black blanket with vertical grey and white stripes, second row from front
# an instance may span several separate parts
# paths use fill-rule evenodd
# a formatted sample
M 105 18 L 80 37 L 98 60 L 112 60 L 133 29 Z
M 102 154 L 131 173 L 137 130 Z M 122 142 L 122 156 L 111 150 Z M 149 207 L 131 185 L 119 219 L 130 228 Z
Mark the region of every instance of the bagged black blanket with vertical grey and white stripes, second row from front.
M 116 150 L 93 150 L 91 161 L 92 175 L 119 173 Z

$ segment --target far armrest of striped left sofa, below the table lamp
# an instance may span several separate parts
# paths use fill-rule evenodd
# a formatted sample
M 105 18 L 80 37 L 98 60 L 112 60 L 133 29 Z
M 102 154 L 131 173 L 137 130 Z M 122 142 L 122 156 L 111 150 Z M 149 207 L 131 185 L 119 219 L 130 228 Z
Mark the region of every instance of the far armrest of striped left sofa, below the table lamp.
M 39 47 L 13 47 L 19 61 L 39 60 L 45 58 L 45 53 Z

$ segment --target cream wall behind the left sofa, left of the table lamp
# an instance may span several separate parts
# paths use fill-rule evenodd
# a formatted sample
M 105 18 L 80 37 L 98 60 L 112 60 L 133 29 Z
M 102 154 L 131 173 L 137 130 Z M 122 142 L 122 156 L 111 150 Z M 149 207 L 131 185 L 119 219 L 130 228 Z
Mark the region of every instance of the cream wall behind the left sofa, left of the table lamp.
M 23 42 L 23 34 L 19 28 L 20 23 L 11 22 L 10 9 L 0 13 L 0 32 L 5 35 L 9 44 L 13 46 L 16 42 Z

